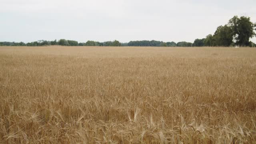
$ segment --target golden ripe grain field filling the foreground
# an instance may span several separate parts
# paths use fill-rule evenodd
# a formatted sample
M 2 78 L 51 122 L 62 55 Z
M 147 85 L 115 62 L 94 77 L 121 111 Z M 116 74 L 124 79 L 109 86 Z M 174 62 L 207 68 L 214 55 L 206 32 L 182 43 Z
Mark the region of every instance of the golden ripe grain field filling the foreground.
M 0 143 L 256 143 L 256 49 L 0 47 Z

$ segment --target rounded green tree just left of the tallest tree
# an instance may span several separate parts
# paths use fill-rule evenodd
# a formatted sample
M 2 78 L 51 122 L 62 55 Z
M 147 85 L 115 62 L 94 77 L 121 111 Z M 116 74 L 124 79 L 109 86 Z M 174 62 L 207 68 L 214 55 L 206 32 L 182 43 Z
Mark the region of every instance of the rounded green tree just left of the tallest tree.
M 213 36 L 214 46 L 230 46 L 233 43 L 232 29 L 228 26 L 219 26 Z

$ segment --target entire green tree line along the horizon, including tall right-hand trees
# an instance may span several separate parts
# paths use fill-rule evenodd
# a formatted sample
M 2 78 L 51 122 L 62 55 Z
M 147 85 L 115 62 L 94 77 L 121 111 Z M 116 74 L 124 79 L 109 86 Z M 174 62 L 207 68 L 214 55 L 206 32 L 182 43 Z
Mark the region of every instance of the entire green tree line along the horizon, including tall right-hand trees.
M 87 42 L 78 43 L 75 40 L 38 40 L 36 42 L 0 42 L 0 46 L 167 46 L 167 47 L 192 47 L 192 46 L 250 46 L 255 47 L 256 44 L 250 41 L 250 38 L 256 36 L 256 23 L 250 21 L 250 17 L 234 16 L 228 21 L 228 24 L 219 26 L 215 33 L 209 34 L 206 38 L 196 39 L 191 42 L 162 42 L 156 40 L 141 40 L 121 43 L 118 40 L 108 42 L 95 42 L 88 40 Z

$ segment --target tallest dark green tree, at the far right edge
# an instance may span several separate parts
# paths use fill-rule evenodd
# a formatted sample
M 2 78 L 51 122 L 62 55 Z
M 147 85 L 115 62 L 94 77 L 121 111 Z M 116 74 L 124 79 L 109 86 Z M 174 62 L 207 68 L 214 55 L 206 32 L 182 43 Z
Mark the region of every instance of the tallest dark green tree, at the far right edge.
M 234 16 L 228 22 L 232 30 L 232 36 L 235 40 L 236 45 L 239 46 L 250 46 L 249 39 L 256 36 L 254 30 L 256 30 L 256 24 L 250 21 L 249 17 Z

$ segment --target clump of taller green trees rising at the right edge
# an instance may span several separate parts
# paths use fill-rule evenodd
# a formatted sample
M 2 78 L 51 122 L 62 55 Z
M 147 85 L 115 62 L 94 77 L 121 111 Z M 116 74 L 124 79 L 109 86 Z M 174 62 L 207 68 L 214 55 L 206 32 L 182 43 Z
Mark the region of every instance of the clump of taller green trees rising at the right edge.
M 234 16 L 228 24 L 219 26 L 214 35 L 209 34 L 206 38 L 196 39 L 193 46 L 250 46 L 255 44 L 250 38 L 256 36 L 256 23 L 250 21 L 250 17 Z

